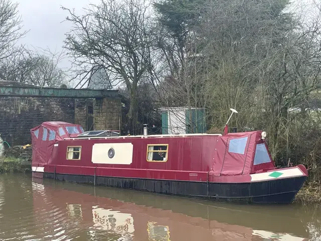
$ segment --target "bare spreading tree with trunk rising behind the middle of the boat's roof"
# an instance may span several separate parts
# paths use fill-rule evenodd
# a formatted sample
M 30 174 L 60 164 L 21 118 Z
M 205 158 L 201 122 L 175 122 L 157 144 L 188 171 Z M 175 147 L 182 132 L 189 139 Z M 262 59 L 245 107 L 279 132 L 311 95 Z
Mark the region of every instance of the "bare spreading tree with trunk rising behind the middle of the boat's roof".
M 134 133 L 137 84 L 150 73 L 147 8 L 148 4 L 140 0 L 102 0 L 81 17 L 64 8 L 69 13 L 67 21 L 74 26 L 65 41 L 74 64 L 102 63 L 112 73 L 114 83 L 125 84 L 130 93 L 128 118 Z

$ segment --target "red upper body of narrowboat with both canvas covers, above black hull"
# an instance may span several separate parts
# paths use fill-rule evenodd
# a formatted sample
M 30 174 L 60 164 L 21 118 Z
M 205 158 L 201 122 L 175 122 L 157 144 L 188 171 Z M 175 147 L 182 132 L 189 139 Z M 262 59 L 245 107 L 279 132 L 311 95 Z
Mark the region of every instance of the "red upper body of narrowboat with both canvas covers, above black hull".
M 33 170 L 49 173 L 206 182 L 275 168 L 260 131 L 81 138 L 79 125 L 49 122 L 31 133 Z

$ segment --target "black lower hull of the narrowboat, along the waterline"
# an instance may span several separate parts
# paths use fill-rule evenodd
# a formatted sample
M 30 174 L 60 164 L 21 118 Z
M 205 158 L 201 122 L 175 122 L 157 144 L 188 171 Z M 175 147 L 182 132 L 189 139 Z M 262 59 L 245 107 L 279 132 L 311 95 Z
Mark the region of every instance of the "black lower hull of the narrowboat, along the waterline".
M 228 203 L 292 203 L 306 176 L 252 183 L 207 183 L 43 173 L 43 178 Z

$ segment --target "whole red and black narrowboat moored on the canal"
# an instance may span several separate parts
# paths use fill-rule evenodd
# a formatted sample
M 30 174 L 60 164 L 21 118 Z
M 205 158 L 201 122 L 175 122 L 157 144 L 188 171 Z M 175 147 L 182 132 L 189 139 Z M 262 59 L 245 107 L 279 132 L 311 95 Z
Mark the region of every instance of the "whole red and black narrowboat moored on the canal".
M 265 132 L 228 133 L 227 124 L 223 134 L 148 135 L 144 127 L 141 136 L 121 136 L 44 122 L 31 129 L 33 176 L 219 202 L 292 203 L 306 168 L 276 167 Z

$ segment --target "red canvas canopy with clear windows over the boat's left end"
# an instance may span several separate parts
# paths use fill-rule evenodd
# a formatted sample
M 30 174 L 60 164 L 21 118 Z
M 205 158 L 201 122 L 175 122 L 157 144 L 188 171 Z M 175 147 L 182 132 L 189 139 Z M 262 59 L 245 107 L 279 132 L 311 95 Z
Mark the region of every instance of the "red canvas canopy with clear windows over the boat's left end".
M 66 122 L 44 122 L 30 130 L 32 139 L 32 166 L 42 167 L 50 160 L 57 141 L 74 136 L 68 130 L 75 129 L 76 132 L 83 133 L 80 125 Z

